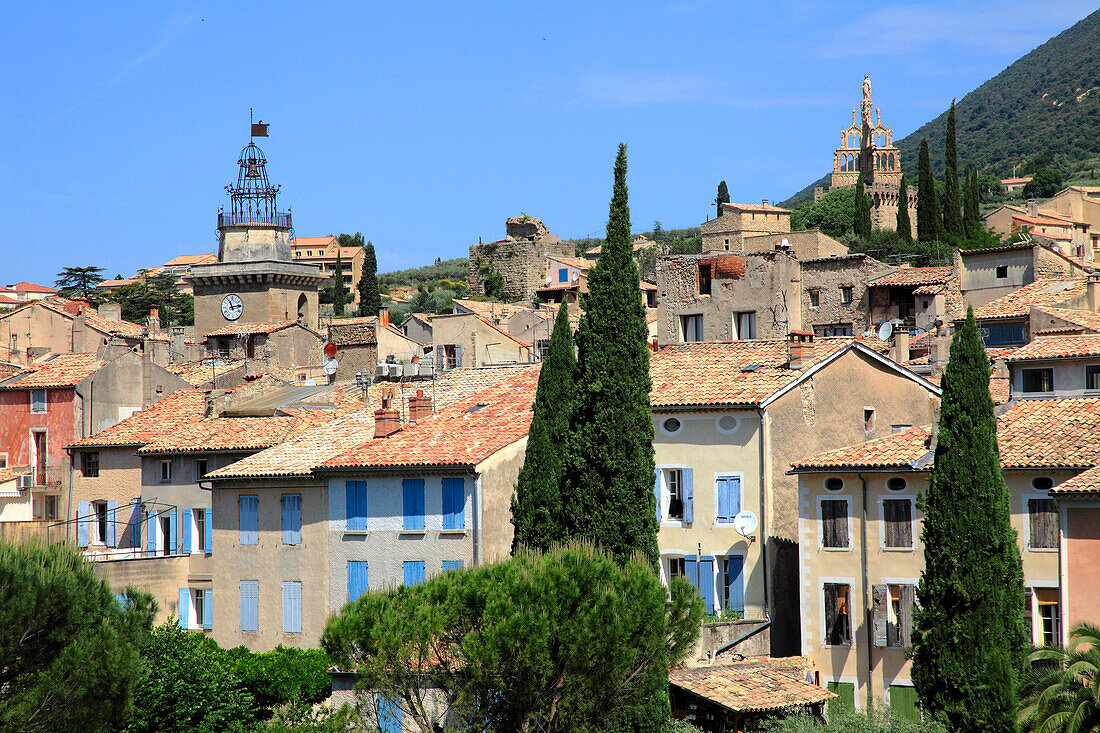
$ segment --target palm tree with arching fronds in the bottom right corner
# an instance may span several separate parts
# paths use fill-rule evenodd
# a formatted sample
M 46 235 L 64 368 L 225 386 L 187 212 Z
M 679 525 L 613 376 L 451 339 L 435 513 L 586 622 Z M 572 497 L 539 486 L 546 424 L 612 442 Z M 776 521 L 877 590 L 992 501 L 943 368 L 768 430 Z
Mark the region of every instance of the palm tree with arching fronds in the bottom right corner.
M 1033 652 L 1021 693 L 1020 727 L 1027 733 L 1100 731 L 1100 627 L 1078 624 L 1068 646 Z

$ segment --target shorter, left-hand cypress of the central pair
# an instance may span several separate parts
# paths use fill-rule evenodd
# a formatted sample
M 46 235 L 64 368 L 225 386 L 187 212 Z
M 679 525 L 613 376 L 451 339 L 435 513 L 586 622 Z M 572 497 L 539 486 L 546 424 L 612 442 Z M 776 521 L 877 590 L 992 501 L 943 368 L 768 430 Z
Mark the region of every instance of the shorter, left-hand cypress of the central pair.
M 513 554 L 520 546 L 546 551 L 565 538 L 560 492 L 575 402 L 573 328 L 569 324 L 569 305 L 562 303 L 539 372 L 527 452 L 512 497 Z

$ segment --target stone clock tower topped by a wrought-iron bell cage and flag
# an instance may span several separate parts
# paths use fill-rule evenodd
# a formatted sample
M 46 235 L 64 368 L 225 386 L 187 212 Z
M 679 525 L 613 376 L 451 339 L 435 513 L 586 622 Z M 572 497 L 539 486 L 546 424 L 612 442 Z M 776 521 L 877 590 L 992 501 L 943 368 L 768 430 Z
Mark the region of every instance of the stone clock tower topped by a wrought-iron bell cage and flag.
M 290 212 L 276 206 L 278 186 L 267 179 L 263 151 L 249 141 L 237 164 L 237 184 L 226 186 L 230 210 L 218 212 L 218 262 L 194 265 L 188 276 L 195 341 L 234 325 L 296 320 L 317 330 L 317 289 L 324 275 L 290 256 Z

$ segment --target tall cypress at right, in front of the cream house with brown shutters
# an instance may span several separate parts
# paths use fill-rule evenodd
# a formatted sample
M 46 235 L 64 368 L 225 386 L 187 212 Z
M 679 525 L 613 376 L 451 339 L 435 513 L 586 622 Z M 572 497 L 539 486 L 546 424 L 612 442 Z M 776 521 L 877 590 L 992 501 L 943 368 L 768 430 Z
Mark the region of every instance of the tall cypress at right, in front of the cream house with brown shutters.
M 952 342 L 921 540 L 913 682 L 952 731 L 1014 733 L 1024 663 L 1023 570 L 974 310 Z

